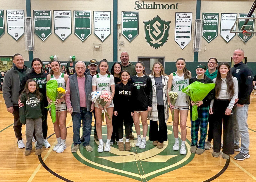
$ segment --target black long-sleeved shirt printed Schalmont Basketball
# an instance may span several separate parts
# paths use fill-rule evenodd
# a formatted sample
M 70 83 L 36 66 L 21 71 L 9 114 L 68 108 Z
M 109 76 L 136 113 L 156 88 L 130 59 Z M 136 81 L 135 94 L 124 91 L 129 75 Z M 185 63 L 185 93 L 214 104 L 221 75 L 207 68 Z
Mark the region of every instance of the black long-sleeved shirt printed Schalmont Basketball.
M 147 107 L 152 107 L 152 81 L 147 75 L 143 77 L 132 77 L 133 86 L 135 86 L 134 94 L 134 110 L 146 111 Z

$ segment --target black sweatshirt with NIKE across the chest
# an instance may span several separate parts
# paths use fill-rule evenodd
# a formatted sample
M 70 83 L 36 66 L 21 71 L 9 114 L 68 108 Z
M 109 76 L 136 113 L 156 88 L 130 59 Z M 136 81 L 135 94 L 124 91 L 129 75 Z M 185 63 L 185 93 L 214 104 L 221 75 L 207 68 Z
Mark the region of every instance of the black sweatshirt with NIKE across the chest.
M 128 112 L 134 112 L 134 86 L 132 83 L 118 83 L 115 85 L 115 95 L 113 98 L 114 111 L 122 112 L 128 110 Z

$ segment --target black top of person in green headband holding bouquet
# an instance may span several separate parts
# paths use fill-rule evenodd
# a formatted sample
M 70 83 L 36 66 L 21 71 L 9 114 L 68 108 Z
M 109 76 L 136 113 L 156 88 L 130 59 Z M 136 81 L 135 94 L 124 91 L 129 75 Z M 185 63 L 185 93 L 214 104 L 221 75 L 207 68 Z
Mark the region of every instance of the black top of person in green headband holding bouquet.
M 201 82 L 201 83 L 213 83 L 212 79 L 209 77 L 205 77 L 204 79 L 197 79 L 196 77 L 192 77 L 189 79 L 189 84 L 192 84 L 193 82 Z M 203 104 L 200 105 L 200 107 L 207 107 L 211 104 L 211 100 L 215 97 L 215 89 L 212 89 L 207 96 L 203 99 Z

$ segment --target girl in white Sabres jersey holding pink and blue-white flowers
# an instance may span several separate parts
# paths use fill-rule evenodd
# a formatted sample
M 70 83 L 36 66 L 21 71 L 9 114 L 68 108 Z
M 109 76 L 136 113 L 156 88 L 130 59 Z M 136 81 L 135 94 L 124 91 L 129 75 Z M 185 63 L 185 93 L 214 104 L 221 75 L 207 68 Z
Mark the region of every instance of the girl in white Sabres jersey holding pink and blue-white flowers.
M 115 81 L 114 76 L 109 73 L 109 65 L 108 61 L 106 59 L 103 59 L 99 62 L 99 70 L 100 72 L 97 75 L 94 75 L 92 77 L 92 91 L 102 91 L 106 90 L 111 93 L 112 98 L 114 98 L 115 94 Z M 112 127 L 112 116 L 113 116 L 113 110 L 114 110 L 114 104 L 113 102 L 109 102 L 105 106 L 110 119 L 106 117 L 106 125 L 107 125 L 107 142 L 105 148 L 103 147 L 103 140 L 102 140 L 102 110 L 103 108 L 95 103 L 95 114 L 96 114 L 96 130 L 97 135 L 99 138 L 99 146 L 98 146 L 98 152 L 103 152 L 103 148 L 105 152 L 110 151 L 110 140 L 111 135 L 113 132 Z

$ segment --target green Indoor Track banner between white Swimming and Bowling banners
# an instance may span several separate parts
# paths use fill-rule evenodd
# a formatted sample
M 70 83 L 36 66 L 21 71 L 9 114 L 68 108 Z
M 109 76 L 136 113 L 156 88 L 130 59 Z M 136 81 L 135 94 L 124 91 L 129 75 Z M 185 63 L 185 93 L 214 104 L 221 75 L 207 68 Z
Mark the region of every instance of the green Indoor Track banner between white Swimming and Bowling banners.
M 74 32 L 82 41 L 92 33 L 91 11 L 74 11 Z

